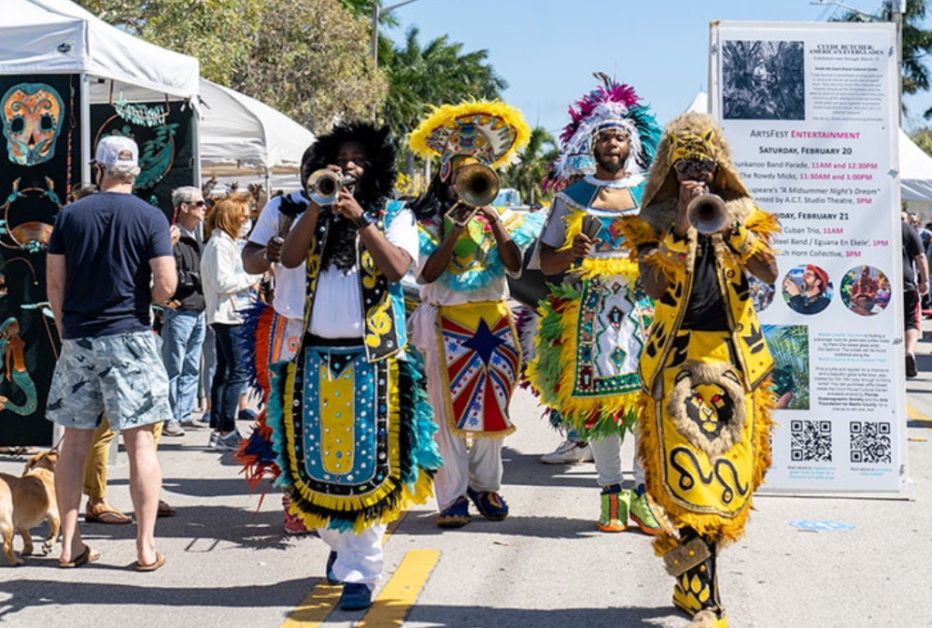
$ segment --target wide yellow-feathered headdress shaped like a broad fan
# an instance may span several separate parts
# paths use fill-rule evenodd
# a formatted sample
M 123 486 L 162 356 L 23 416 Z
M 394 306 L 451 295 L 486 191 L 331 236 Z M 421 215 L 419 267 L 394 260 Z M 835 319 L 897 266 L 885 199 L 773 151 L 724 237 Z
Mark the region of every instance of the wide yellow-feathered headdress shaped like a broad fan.
M 530 140 L 530 129 L 515 107 L 500 101 L 445 104 L 432 111 L 408 137 L 412 152 L 440 157 L 443 181 L 455 157 L 474 157 L 498 168 L 512 163 Z

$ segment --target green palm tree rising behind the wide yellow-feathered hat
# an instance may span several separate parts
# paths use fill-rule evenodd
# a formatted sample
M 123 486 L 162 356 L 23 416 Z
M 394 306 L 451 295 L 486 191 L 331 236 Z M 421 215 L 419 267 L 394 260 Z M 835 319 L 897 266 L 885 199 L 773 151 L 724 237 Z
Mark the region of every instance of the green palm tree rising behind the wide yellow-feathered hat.
M 421 48 L 418 28 L 412 27 L 404 47 L 395 48 L 388 39 L 379 42 L 380 64 L 389 77 L 389 93 L 382 108 L 396 141 L 406 147 L 407 135 L 429 111 L 440 106 L 475 99 L 498 98 L 508 87 L 488 64 L 488 51 L 463 53 L 463 45 L 450 43 L 446 35 Z M 406 154 L 404 170 L 414 171 L 414 155 Z

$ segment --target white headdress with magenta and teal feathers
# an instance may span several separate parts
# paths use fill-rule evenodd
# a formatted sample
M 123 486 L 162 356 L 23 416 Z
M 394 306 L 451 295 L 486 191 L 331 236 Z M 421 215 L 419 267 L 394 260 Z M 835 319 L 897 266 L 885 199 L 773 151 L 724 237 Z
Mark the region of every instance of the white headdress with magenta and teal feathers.
M 560 134 L 562 150 L 544 180 L 545 187 L 559 188 L 573 176 L 594 174 L 595 137 L 606 129 L 624 129 L 628 134 L 630 153 L 624 164 L 625 171 L 637 174 L 651 167 L 661 135 L 651 108 L 640 101 L 631 86 L 602 73 L 596 76 L 604 85 L 569 105 L 572 121 Z

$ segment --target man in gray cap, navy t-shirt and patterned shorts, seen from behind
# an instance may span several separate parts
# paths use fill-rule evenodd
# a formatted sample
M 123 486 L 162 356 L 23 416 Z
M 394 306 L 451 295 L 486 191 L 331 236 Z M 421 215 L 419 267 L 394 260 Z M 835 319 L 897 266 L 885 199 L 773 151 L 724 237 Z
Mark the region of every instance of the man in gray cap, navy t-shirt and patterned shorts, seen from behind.
M 59 567 L 80 567 L 100 553 L 82 539 L 77 510 L 85 457 L 104 414 L 123 432 L 136 515 L 135 568 L 165 564 L 156 552 L 161 469 L 153 428 L 171 416 L 168 375 L 152 333 L 150 306 L 177 284 L 168 220 L 132 196 L 139 148 L 104 137 L 91 161 L 100 192 L 58 215 L 48 242 L 48 301 L 62 354 L 48 392 L 47 416 L 64 428 L 55 489 L 62 517 Z

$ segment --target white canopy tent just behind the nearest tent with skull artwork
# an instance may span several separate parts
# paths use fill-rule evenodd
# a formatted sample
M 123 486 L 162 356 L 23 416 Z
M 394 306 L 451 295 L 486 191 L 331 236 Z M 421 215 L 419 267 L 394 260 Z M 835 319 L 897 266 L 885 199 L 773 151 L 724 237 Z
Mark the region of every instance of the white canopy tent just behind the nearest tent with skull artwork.
M 314 134 L 264 102 L 200 80 L 200 171 L 221 184 L 262 184 L 287 190 Z

